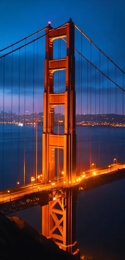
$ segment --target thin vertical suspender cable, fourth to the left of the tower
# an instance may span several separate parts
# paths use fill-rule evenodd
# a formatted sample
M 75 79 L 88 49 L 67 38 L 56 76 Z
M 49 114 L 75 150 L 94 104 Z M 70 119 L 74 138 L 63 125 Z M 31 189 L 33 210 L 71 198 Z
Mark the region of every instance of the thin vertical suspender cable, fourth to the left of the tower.
M 20 50 L 19 50 L 19 116 L 18 124 L 20 124 Z M 20 127 L 18 126 L 18 181 L 20 179 Z

